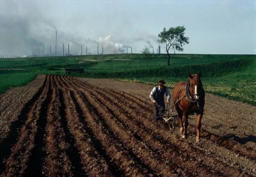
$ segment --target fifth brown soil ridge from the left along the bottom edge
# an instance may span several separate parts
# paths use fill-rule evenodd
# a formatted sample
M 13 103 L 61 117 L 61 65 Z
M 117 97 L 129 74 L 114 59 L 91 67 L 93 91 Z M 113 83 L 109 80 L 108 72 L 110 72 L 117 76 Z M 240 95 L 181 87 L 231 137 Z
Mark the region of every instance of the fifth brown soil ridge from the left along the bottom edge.
M 164 176 L 178 173 L 175 171 L 177 167 L 172 164 L 173 162 L 164 161 L 164 159 L 161 158 L 158 153 L 156 153 L 156 150 L 154 150 L 154 148 L 148 148 L 147 144 L 141 141 L 141 138 L 138 135 L 136 135 L 134 132 L 129 132 L 129 130 L 122 127 L 122 125 L 116 120 L 115 115 L 111 114 L 109 109 L 101 104 L 95 96 L 88 97 L 88 99 L 90 100 L 90 103 L 92 103 L 91 107 L 95 107 L 95 111 L 99 111 L 98 114 L 100 114 L 100 117 L 106 121 L 106 128 L 113 131 L 113 134 L 118 135 L 118 138 L 125 144 L 125 146 L 127 146 L 129 149 L 131 148 L 130 150 L 132 150 L 137 157 L 141 158 L 144 164 L 147 164 L 151 169 L 156 170 L 157 173 Z M 111 107 L 111 105 L 109 105 L 109 107 Z M 116 107 L 115 109 L 118 108 Z M 106 115 L 105 112 L 109 113 Z M 125 116 L 125 114 L 120 116 Z M 173 167 L 173 169 L 171 167 Z M 186 174 L 184 171 L 182 171 L 182 173 Z M 191 176 L 192 174 L 187 173 L 187 175 Z

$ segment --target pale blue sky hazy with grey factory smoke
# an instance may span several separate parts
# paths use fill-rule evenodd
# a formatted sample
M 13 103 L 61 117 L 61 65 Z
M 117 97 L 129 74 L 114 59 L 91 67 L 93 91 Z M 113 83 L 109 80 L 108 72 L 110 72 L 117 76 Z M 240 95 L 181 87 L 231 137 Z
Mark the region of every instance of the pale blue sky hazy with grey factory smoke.
M 189 43 L 176 54 L 256 54 L 255 0 L 0 0 L 0 57 L 166 53 L 163 28 L 184 26 Z M 170 50 L 173 53 L 173 50 Z

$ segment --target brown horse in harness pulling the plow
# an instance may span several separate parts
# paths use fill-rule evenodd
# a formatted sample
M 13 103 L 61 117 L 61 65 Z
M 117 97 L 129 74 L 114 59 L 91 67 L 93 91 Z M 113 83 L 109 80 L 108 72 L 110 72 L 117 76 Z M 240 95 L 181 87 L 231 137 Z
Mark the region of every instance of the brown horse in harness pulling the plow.
M 196 142 L 200 141 L 201 119 L 204 114 L 204 88 L 201 82 L 201 74 L 191 75 L 188 82 L 179 82 L 173 89 L 173 102 L 180 119 L 180 134 L 187 137 L 188 115 L 196 112 Z M 184 116 L 184 123 L 182 121 Z

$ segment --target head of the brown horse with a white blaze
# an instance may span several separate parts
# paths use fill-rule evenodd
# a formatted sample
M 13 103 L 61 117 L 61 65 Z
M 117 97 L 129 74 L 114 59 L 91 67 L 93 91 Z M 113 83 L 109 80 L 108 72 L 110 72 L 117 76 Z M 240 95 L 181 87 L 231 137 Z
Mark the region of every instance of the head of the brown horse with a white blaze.
M 189 73 L 189 88 L 192 92 L 193 98 L 197 102 L 199 100 L 200 94 L 204 91 L 201 82 L 201 73 L 193 75 Z

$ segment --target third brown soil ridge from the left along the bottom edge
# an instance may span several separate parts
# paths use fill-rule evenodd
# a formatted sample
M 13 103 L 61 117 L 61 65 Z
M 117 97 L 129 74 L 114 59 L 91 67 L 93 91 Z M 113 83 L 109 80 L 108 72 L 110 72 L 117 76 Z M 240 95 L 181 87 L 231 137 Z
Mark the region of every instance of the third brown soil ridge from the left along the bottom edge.
M 80 121 L 81 118 L 79 118 L 79 114 L 76 111 L 74 102 L 72 102 L 70 98 L 69 92 L 69 90 L 63 89 L 63 102 L 67 105 L 65 109 L 67 126 L 74 139 L 76 139 L 75 146 L 77 150 L 79 150 L 79 158 L 81 164 L 83 164 L 85 174 L 88 176 L 102 176 L 103 174 L 113 176 L 104 159 L 99 155 L 97 150 L 95 150 L 92 137 L 90 137 L 86 129 L 83 128 Z

